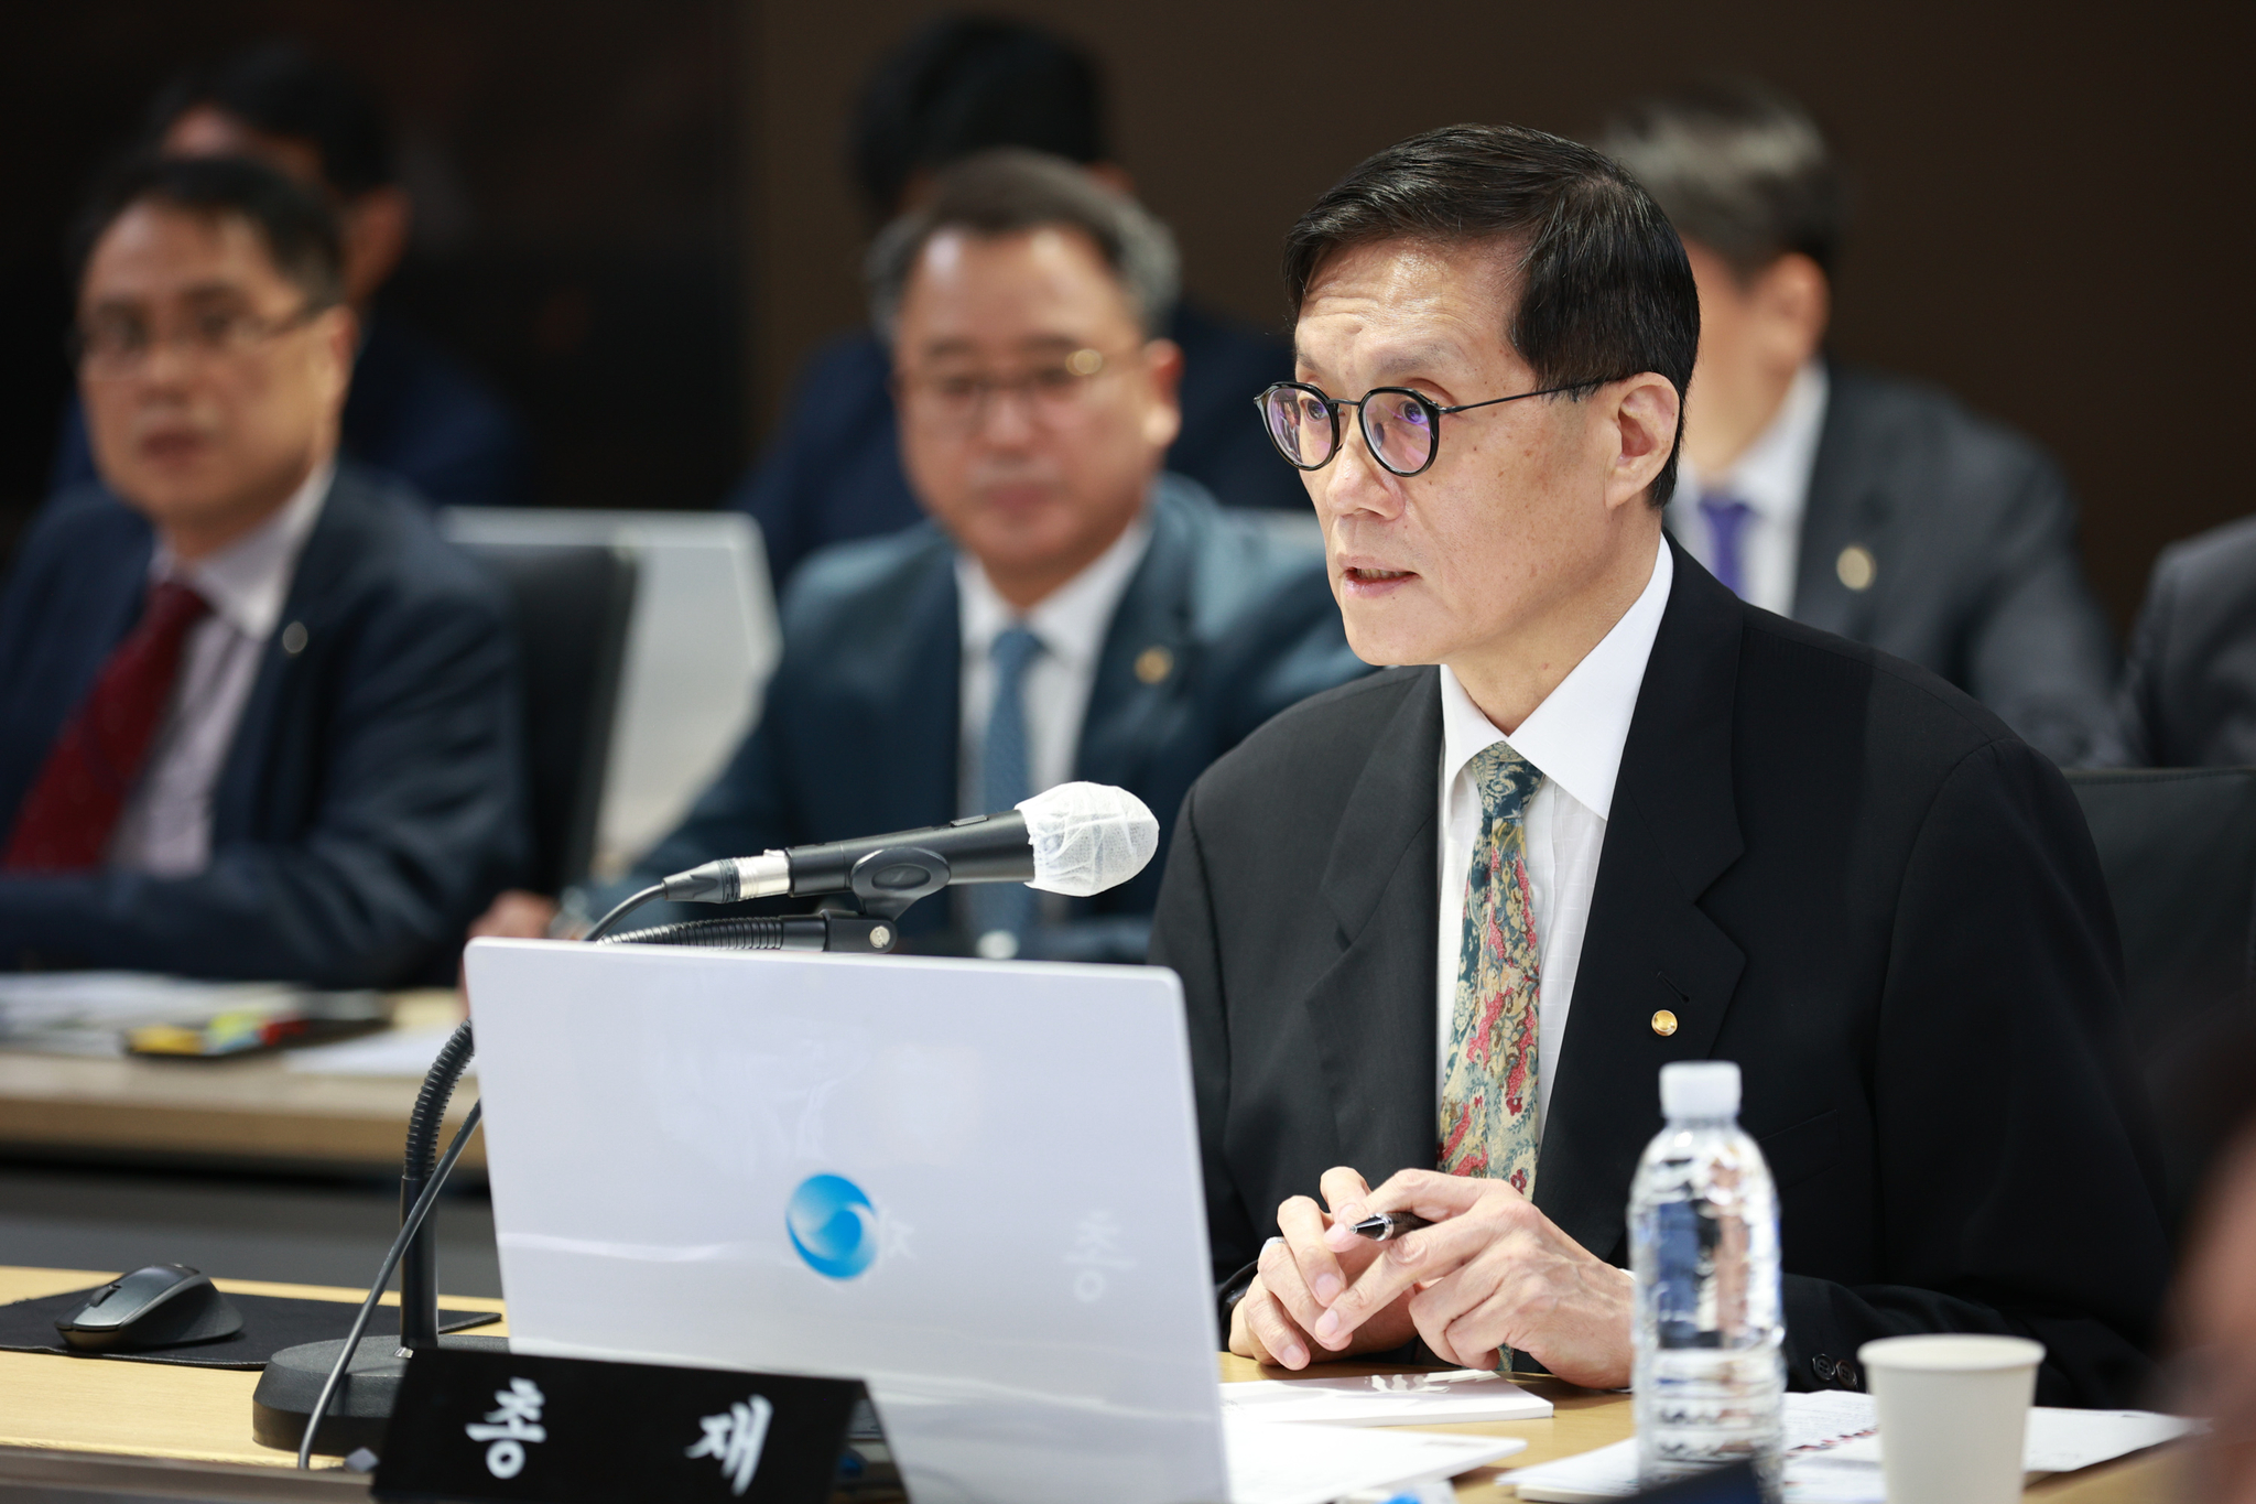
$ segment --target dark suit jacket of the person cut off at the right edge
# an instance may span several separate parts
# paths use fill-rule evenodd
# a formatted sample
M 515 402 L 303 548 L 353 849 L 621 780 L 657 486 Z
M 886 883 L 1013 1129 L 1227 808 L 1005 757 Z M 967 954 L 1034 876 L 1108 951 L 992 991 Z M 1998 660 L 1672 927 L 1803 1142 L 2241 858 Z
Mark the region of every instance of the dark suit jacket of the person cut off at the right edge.
M 2145 767 L 2256 764 L 2256 519 L 2154 559 L 2123 710 Z

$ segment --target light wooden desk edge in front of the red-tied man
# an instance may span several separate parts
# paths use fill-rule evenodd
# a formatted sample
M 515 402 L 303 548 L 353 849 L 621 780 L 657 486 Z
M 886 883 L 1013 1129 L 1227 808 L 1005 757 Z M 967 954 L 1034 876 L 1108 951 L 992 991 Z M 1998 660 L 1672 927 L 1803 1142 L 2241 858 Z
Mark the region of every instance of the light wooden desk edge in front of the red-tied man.
M 453 992 L 404 992 L 395 1028 L 460 1017 Z M 83 1159 L 399 1173 L 420 1078 L 309 1076 L 282 1055 L 246 1060 L 97 1060 L 0 1051 L 0 1150 Z M 478 1100 L 465 1080 L 453 1132 Z M 485 1170 L 485 1134 L 460 1170 Z

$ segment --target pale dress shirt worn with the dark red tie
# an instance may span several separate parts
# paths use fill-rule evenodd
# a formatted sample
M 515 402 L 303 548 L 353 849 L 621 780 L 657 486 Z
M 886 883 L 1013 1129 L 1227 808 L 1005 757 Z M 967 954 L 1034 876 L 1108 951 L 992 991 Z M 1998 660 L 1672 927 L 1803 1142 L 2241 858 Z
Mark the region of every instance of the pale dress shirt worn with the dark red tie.
M 334 460 L 316 465 L 280 512 L 203 559 L 180 561 L 158 543 L 149 559 L 151 584 L 178 580 L 203 595 L 212 613 L 190 627 L 180 647 L 171 704 L 111 834 L 111 866 L 185 877 L 210 864 L 212 789 L 334 478 Z

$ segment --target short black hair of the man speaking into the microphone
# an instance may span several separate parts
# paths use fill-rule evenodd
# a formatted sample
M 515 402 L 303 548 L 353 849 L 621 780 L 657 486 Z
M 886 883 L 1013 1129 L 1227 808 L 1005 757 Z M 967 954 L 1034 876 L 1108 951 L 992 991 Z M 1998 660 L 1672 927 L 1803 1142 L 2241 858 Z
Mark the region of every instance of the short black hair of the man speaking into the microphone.
M 1597 151 L 1521 126 L 1444 126 L 1365 158 L 1284 241 L 1299 316 L 1322 264 L 1376 241 L 1493 244 L 1518 302 L 1502 336 L 1548 388 L 1586 397 L 1658 372 L 1676 388 L 1676 444 L 1651 501 L 1676 489 L 1683 395 L 1699 356 L 1699 286 L 1660 205 Z

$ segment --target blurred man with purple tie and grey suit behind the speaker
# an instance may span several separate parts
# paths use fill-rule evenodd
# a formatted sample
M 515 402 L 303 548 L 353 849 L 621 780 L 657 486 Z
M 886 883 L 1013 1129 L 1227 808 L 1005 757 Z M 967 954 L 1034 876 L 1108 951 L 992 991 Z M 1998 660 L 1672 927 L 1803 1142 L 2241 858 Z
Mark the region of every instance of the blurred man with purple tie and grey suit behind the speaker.
M 1945 392 L 1823 354 L 1845 194 L 1816 124 L 1706 83 L 1597 144 L 1699 277 L 1669 532 L 1744 600 L 1942 674 L 2055 762 L 2121 762 L 2114 636 L 2060 469 Z

